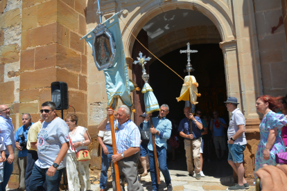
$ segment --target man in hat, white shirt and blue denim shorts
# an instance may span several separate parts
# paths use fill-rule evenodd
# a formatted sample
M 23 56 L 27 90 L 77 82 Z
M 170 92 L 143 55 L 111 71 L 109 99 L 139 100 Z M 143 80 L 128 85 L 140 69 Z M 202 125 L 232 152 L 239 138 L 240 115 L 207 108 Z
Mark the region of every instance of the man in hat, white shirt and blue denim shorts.
M 228 163 L 238 175 L 238 184 L 229 187 L 228 190 L 245 190 L 249 188 L 247 181 L 244 179 L 243 152 L 246 147 L 245 138 L 245 118 L 243 113 L 237 108 L 237 98 L 229 97 L 225 102 L 227 110 L 232 112 L 228 136 Z

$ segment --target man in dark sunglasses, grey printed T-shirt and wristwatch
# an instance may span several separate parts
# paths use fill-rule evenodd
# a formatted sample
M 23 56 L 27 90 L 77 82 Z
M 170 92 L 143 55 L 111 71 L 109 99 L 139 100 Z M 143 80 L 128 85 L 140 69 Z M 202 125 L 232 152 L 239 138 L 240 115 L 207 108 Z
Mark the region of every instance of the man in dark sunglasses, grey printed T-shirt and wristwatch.
M 44 102 L 40 113 L 44 122 L 37 135 L 38 160 L 30 177 L 30 190 L 59 190 L 66 154 L 69 149 L 69 127 L 56 115 L 54 102 Z

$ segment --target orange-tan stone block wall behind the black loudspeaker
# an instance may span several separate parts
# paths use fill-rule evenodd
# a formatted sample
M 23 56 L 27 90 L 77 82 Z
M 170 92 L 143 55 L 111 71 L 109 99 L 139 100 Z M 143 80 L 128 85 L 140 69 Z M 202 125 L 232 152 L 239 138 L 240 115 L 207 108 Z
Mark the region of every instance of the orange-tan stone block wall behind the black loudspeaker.
M 0 0 L 0 103 L 12 108 L 15 130 L 21 113 L 40 119 L 55 81 L 67 82 L 78 125 L 88 126 L 86 9 L 85 0 Z M 18 187 L 17 173 L 15 163 L 10 188 Z

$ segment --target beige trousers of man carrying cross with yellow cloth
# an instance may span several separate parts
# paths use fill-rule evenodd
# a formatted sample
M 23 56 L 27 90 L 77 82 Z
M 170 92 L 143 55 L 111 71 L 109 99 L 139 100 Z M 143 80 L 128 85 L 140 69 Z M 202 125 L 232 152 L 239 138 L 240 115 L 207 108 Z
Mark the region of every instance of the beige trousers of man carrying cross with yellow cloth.
M 191 143 L 193 145 L 193 157 L 191 156 Z M 193 158 L 194 158 L 194 172 L 195 174 L 200 173 L 200 145 L 201 145 L 201 138 L 198 138 L 196 140 L 184 139 L 187 171 L 190 174 L 193 174 Z

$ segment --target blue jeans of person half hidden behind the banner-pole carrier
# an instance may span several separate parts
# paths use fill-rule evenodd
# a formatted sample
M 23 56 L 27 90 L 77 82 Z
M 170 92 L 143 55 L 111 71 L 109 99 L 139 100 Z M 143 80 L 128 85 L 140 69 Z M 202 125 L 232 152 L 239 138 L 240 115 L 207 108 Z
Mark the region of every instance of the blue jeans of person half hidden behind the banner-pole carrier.
M 105 154 L 102 149 L 102 170 L 101 170 L 101 179 L 100 179 L 100 188 L 107 188 L 107 170 L 109 170 L 110 163 L 112 161 L 112 147 L 105 145 L 109 154 Z

